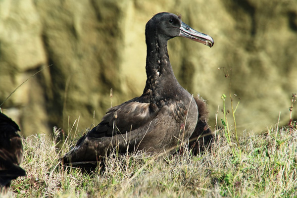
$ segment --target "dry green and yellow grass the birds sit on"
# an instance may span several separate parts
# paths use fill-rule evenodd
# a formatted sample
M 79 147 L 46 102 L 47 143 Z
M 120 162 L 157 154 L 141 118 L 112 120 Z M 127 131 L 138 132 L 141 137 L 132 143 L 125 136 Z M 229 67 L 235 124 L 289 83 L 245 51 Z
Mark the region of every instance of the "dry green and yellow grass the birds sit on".
M 238 137 L 239 147 L 235 135 L 233 147 L 224 134 L 216 130 L 212 148 L 198 156 L 187 149 L 159 158 L 114 154 L 106 159 L 105 171 L 93 175 L 58 166 L 73 142 L 58 149 L 56 138 L 30 136 L 23 141 L 27 176 L 14 180 L 6 197 L 297 197 L 296 127 L 246 134 Z

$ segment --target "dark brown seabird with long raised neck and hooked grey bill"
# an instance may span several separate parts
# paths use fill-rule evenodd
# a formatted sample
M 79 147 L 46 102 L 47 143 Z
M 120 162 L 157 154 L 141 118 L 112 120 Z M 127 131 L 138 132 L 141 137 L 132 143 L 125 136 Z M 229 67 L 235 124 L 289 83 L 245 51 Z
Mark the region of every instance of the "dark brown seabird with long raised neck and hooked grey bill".
M 118 153 L 144 150 L 172 154 L 189 140 L 198 121 L 195 99 L 176 80 L 167 41 L 185 37 L 213 46 L 175 14 L 154 15 L 146 25 L 147 82 L 142 96 L 108 109 L 97 127 L 87 132 L 62 157 L 63 165 L 96 166 L 113 148 Z

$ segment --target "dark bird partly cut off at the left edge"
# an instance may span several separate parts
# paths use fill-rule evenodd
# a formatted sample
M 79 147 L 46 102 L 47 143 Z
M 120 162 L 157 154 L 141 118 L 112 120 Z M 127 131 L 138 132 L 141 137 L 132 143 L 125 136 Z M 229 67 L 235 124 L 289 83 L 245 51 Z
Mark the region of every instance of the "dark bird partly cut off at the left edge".
M 0 192 L 6 192 L 12 179 L 25 176 L 19 165 L 23 160 L 22 138 L 18 125 L 0 113 Z

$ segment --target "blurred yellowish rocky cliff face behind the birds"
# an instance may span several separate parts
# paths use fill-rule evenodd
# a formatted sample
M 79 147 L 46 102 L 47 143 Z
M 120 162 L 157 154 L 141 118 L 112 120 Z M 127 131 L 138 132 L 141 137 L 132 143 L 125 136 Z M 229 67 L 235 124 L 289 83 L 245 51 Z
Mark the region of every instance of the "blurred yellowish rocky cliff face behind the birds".
M 50 133 L 52 126 L 68 131 L 76 119 L 79 130 L 98 124 L 110 107 L 111 88 L 112 105 L 142 94 L 145 24 L 161 11 L 181 13 L 185 23 L 214 38 L 212 49 L 183 38 L 168 44 L 175 75 L 207 100 L 212 127 L 218 105 L 222 117 L 221 95 L 229 93 L 237 95 L 235 104 L 241 98 L 241 129 L 265 130 L 279 112 L 281 124 L 288 122 L 297 92 L 295 0 L 2 0 L 0 103 L 43 69 L 2 111 L 25 135 Z

